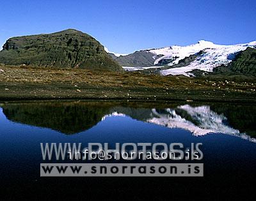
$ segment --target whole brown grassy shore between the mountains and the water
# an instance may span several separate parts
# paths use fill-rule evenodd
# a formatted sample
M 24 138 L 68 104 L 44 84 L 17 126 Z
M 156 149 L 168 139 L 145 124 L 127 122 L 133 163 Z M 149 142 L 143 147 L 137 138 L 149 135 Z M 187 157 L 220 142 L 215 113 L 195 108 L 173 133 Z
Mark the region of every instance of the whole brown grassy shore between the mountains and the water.
M 0 64 L 0 101 L 136 100 L 256 102 L 256 81 L 140 72 L 31 68 Z

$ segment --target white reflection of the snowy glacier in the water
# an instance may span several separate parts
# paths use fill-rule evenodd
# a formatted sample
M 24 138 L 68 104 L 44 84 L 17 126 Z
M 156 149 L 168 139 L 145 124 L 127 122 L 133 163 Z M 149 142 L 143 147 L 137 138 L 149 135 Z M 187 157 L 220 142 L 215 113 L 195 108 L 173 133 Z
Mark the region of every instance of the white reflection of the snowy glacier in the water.
M 138 118 L 138 115 L 133 117 L 129 112 L 121 112 L 116 109 L 115 112 L 102 117 L 102 120 L 106 119 L 106 117 L 124 117 L 125 115 L 168 128 L 182 128 L 190 131 L 195 136 L 206 135 L 208 133 L 223 133 L 256 142 L 255 138 L 251 138 L 245 133 L 240 133 L 239 130 L 228 126 L 227 117 L 223 114 L 213 112 L 209 106 L 191 107 L 190 105 L 180 105 L 174 109 L 165 108 L 164 110 L 154 108 L 148 112 L 147 117 L 144 115 L 143 118 Z

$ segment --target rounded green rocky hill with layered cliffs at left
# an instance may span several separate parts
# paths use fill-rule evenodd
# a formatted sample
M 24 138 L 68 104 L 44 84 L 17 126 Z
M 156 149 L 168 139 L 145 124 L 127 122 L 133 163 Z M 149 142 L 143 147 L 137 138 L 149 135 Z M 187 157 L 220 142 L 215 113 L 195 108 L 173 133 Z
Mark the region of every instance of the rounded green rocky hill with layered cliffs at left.
M 121 71 L 92 36 L 67 29 L 58 33 L 13 37 L 0 52 L 0 63 Z

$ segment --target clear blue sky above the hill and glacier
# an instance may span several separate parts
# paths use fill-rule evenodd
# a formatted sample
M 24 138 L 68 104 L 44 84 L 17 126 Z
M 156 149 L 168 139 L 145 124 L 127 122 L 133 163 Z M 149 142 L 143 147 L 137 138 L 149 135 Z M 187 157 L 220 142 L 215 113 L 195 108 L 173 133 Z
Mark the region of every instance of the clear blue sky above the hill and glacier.
M 255 0 L 8 0 L 0 2 L 0 45 L 12 36 L 74 28 L 110 51 L 256 40 Z

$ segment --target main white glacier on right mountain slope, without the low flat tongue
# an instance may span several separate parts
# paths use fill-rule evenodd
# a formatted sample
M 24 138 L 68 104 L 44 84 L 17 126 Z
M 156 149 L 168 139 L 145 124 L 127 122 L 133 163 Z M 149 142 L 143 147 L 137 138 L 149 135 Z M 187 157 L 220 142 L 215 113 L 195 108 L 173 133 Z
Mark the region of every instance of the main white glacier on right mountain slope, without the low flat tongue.
M 192 61 L 188 66 L 180 68 L 170 68 L 162 70 L 162 75 L 186 75 L 192 70 L 204 70 L 212 71 L 213 68 L 220 65 L 227 65 L 234 59 L 234 56 L 248 47 L 255 47 L 256 41 L 250 43 L 238 44 L 238 45 L 216 45 L 209 41 L 199 41 L 195 45 L 189 45 L 186 47 L 174 47 L 174 51 L 170 51 L 164 57 L 175 58 L 172 63 L 168 66 L 173 66 L 179 63 L 180 59 L 184 59 L 190 55 L 196 54 L 197 52 L 204 50 L 204 53 L 198 56 L 195 61 Z

